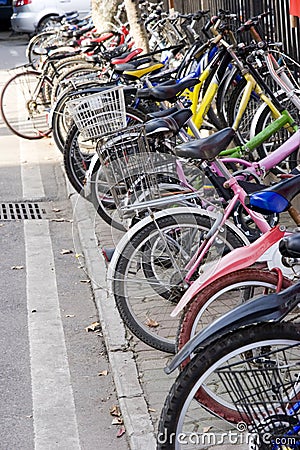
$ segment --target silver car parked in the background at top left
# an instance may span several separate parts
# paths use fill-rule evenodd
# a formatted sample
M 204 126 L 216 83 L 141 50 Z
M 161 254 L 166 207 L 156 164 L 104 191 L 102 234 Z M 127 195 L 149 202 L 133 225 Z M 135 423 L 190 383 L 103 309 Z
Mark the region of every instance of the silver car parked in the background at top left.
M 34 33 L 51 20 L 69 11 L 80 16 L 90 12 L 90 0 L 13 0 L 12 29 L 19 33 Z

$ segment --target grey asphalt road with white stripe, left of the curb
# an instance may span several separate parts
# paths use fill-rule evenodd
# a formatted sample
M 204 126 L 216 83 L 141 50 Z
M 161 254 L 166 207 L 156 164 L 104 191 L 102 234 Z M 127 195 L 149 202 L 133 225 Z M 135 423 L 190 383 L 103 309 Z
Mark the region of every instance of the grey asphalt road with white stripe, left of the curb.
M 0 33 L 0 88 L 26 43 Z M 112 424 L 101 329 L 86 331 L 98 316 L 76 257 L 62 157 L 51 139 L 19 139 L 2 120 L 0 142 L 0 449 L 127 449 Z M 5 208 L 28 203 L 41 219 L 5 219 Z

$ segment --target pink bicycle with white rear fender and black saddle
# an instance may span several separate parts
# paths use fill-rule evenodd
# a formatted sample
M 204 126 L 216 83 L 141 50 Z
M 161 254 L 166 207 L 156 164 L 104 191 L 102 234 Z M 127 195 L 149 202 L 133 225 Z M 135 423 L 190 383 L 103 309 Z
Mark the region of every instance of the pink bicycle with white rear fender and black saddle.
M 260 163 L 226 160 L 243 166 L 235 174 L 217 157 L 231 133 L 231 129 L 224 129 L 176 149 L 178 156 L 198 161 L 206 174 L 210 170 L 213 176 L 223 178 L 224 194 L 232 192 L 225 209 L 217 211 L 213 203 L 207 202 L 206 209 L 179 207 L 150 212 L 126 233 L 113 256 L 108 276 L 121 317 L 137 337 L 154 348 L 175 352 L 178 319 L 175 314 L 170 315 L 172 303 L 182 298 L 175 313 L 181 311 L 197 294 L 196 280 L 203 270 L 214 267 L 234 248 L 249 245 L 242 224 L 234 225 L 228 220 L 234 212 L 243 217 L 244 223 L 255 224 L 260 233 L 270 233 L 272 244 L 283 235 L 280 228 L 272 230 L 274 224 L 270 225 L 261 214 L 247 207 L 247 194 L 242 186 L 251 187 L 252 191 L 261 188 L 247 178 L 264 174 L 298 150 L 300 131 Z M 157 202 L 168 204 L 167 199 Z

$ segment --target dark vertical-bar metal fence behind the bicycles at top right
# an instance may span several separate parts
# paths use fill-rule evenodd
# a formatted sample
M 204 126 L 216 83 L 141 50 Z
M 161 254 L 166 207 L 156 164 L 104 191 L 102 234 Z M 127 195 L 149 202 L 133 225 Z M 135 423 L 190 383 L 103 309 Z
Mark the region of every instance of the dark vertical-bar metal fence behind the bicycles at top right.
M 168 1 L 165 0 L 166 6 Z M 283 42 L 284 50 L 294 59 L 300 59 L 300 21 L 289 14 L 290 0 L 175 0 L 175 9 L 182 13 L 209 9 L 216 14 L 219 9 L 236 13 L 245 21 L 263 11 L 271 15 L 264 19 L 264 31 L 268 40 Z

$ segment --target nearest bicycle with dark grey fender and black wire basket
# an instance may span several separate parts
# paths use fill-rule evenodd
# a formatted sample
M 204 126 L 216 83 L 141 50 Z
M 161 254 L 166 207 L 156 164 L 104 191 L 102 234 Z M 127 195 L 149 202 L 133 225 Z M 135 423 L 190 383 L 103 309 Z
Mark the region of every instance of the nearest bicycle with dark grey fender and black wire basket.
M 285 238 L 281 253 L 299 258 L 299 242 L 299 233 Z M 162 445 L 159 443 L 160 450 L 181 448 L 178 442 L 170 443 L 169 436 L 171 433 L 177 436 L 179 432 L 189 434 L 191 424 L 196 426 L 201 404 L 232 423 L 242 421 L 254 438 L 269 431 L 269 446 L 254 448 L 282 448 L 276 447 L 280 443 L 275 440 L 278 435 L 288 437 L 298 433 L 300 329 L 295 317 L 293 323 L 283 320 L 295 311 L 299 289 L 298 282 L 280 293 L 261 296 L 234 308 L 176 355 L 166 368 L 167 373 L 187 356 L 193 358 L 166 399 L 159 434 L 163 431 L 167 438 Z

